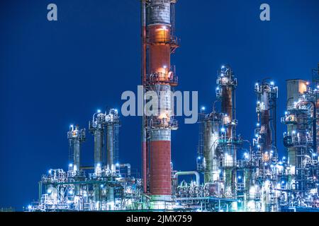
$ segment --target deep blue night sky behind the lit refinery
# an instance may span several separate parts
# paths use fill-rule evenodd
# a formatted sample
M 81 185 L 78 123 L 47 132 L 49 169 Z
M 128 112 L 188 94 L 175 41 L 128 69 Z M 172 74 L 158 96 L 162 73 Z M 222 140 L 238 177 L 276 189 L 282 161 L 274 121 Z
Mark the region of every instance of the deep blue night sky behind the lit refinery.
M 121 93 L 140 83 L 140 1 L 1 1 L 0 4 L 0 208 L 38 198 L 41 174 L 68 165 L 69 124 L 87 127 L 96 109 L 120 109 Z M 47 21 L 55 3 L 58 21 Z M 268 3 L 271 21 L 259 20 Z M 254 83 L 279 85 L 278 119 L 284 113 L 285 80 L 310 80 L 319 61 L 318 0 L 180 0 L 172 57 L 178 90 L 198 90 L 211 108 L 216 71 L 229 63 L 238 78 L 238 133 L 252 140 L 256 122 Z M 172 135 L 174 169 L 196 169 L 198 125 Z M 279 121 L 279 120 L 278 120 Z M 122 117 L 121 162 L 140 169 L 140 118 Z M 278 126 L 279 148 L 284 126 Z M 93 162 L 86 133 L 82 163 Z

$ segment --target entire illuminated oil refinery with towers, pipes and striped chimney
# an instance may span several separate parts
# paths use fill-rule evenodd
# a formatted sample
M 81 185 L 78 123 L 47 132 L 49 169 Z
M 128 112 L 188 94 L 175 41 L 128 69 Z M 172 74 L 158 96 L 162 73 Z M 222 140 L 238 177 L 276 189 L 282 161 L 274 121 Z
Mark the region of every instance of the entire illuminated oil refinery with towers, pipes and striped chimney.
M 159 95 L 179 83 L 171 64 L 179 47 L 175 4 L 177 0 L 141 1 L 140 85 L 145 93 Z M 251 106 L 257 119 L 254 137 L 244 138 L 237 131 L 243 123 L 237 114 L 245 114 L 236 108 L 240 81 L 230 65 L 221 66 L 213 84 L 213 106 L 199 114 L 197 169 L 186 172 L 172 165 L 171 133 L 179 124 L 170 92 L 159 100 L 158 111 L 165 113 L 145 112 L 136 129 L 142 136 L 141 150 L 135 150 L 142 158 L 140 178 L 131 173 L 129 162 L 120 161 L 119 138 L 125 130 L 121 112 L 96 112 L 87 129 L 70 126 L 66 141 L 72 163 L 41 177 L 38 201 L 28 211 L 319 212 L 319 64 L 310 76 L 311 83 L 286 81 L 286 95 L 271 79 L 261 78 L 252 87 L 257 103 Z M 279 95 L 286 96 L 284 115 L 277 113 Z M 277 134 L 280 123 L 286 126 L 283 135 Z M 87 136 L 94 137 L 91 166 L 82 165 Z M 284 157 L 279 158 L 282 141 Z M 194 180 L 181 180 L 185 175 Z

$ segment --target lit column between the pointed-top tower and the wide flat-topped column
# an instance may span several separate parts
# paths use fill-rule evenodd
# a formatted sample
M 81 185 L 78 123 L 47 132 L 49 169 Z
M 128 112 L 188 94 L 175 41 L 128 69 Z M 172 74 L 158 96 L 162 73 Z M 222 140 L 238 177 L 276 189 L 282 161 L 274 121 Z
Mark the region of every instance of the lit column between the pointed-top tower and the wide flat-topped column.
M 253 140 L 257 157 L 257 175 L 262 177 L 262 210 L 270 212 L 276 208 L 276 198 L 272 188 L 276 186 L 277 178 L 274 176 L 272 164 L 276 163 L 276 99 L 278 87 L 274 82 L 256 83 L 254 92 L 257 94 L 257 129 Z M 274 136 L 273 136 L 274 133 Z M 256 185 L 254 185 L 256 187 Z M 250 194 L 254 195 L 254 194 Z M 254 197 L 256 198 L 256 197 Z

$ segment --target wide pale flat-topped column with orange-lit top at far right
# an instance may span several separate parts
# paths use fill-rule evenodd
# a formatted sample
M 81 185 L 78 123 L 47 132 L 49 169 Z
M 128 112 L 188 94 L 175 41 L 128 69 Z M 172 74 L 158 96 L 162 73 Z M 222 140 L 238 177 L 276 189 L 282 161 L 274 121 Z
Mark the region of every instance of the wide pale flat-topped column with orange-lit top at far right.
M 287 111 L 281 122 L 286 124 L 284 145 L 288 150 L 289 189 L 305 192 L 312 152 L 316 150 L 316 108 L 313 93 L 308 82 L 301 80 L 287 81 Z

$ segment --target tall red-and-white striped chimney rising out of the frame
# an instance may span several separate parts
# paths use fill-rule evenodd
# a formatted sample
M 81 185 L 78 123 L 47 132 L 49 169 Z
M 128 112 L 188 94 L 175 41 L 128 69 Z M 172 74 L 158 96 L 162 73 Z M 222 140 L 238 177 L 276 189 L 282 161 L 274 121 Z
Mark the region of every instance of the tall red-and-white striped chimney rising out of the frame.
M 177 49 L 174 37 L 176 0 L 142 1 L 142 85 L 156 93 L 158 106 L 144 114 L 142 121 L 143 190 L 152 201 L 167 201 L 172 195 L 171 130 L 177 129 L 171 109 L 171 90 L 177 76 L 171 54 Z M 145 112 L 144 112 L 145 113 Z

